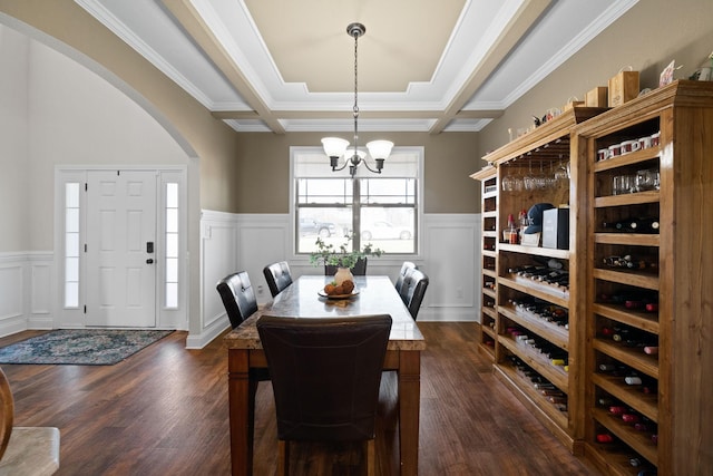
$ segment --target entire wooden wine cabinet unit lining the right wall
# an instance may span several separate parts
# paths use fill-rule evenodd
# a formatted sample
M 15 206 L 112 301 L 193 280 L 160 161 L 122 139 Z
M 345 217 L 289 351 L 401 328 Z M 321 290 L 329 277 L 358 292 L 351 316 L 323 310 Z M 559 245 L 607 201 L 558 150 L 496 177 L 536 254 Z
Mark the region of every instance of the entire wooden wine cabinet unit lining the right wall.
M 598 159 L 600 149 L 639 139 L 637 150 Z M 559 157 L 570 161 L 567 187 L 504 190 L 508 176 L 533 175 Z M 484 159 L 500 184 L 495 373 L 605 474 L 713 474 L 713 82 L 674 81 L 608 110 L 574 108 Z M 472 177 L 491 179 L 482 171 Z M 566 198 L 569 250 L 502 242 L 509 214 Z M 658 226 L 646 233 L 609 225 L 652 217 Z M 538 258 L 565 263 L 568 290 L 509 272 Z M 522 299 L 566 309 L 568 329 L 514 304 Z M 524 344 L 522 333 L 567 352 L 568 371 Z M 548 401 L 533 376 L 566 394 L 566 408 Z M 626 376 L 642 383 L 627 385 Z

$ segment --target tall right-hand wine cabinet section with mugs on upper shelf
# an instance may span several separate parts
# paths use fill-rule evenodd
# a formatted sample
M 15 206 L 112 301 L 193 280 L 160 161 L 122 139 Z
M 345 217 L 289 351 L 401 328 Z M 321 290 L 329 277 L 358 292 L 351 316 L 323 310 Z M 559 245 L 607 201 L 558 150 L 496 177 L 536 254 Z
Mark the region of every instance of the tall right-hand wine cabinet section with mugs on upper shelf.
M 674 81 L 575 134 L 587 169 L 585 454 L 607 474 L 713 474 L 713 84 Z M 658 178 L 614 187 L 639 171 Z

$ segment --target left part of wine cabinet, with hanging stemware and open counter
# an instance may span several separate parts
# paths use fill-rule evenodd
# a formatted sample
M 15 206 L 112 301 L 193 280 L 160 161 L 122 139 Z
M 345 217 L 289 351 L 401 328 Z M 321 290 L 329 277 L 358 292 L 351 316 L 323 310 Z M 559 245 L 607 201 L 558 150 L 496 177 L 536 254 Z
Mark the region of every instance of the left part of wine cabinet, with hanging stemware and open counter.
M 578 272 L 584 261 L 577 254 L 577 243 L 585 230 L 584 222 L 578 220 L 577 202 L 583 172 L 576 155 L 575 159 L 570 157 L 578 149 L 570 132 L 576 124 L 603 110 L 574 107 L 484 157 L 490 168 L 497 169 L 499 185 L 494 216 L 496 312 L 488 318 L 488 322 L 495 323 L 495 332 L 488 334 L 495 340 L 494 371 L 573 453 L 580 453 L 584 438 L 584 329 L 579 323 L 584 304 L 577 299 L 584 293 L 584 278 Z M 545 176 L 558 179 L 544 187 L 545 182 L 539 185 L 531 182 L 528 186 L 521 182 L 525 177 Z M 490 175 L 481 171 L 472 177 L 485 186 Z M 520 212 L 527 212 L 536 203 L 569 205 L 569 250 L 502 241 L 508 216 L 514 215 L 517 221 Z M 484 204 L 484 222 L 485 211 Z M 568 283 L 550 284 L 515 272 L 553 260 L 569 273 Z M 484 302 L 482 314 L 490 317 L 485 308 Z

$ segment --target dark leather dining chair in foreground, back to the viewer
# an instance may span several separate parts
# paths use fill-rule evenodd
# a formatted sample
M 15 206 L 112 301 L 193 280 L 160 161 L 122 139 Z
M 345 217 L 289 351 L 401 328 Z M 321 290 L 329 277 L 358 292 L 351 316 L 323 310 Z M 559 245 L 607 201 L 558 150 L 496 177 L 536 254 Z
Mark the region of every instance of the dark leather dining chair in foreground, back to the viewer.
M 289 474 L 291 441 L 362 441 L 368 474 L 373 475 L 391 317 L 262 315 L 256 326 L 272 375 L 277 474 Z

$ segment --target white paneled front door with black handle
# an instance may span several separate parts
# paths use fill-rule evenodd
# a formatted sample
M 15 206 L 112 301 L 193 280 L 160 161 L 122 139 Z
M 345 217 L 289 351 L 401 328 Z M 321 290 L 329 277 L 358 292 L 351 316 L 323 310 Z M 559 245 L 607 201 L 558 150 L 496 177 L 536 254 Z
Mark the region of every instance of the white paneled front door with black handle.
M 88 172 L 87 326 L 156 326 L 156 182 L 153 171 Z

